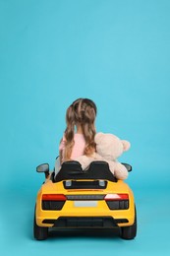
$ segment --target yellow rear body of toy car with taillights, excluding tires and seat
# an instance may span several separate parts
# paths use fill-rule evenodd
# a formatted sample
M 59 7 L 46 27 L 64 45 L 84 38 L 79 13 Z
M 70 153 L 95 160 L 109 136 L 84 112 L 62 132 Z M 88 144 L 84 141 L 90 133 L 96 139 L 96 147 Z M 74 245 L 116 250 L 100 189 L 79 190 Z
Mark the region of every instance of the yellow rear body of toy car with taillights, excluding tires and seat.
M 121 180 L 101 177 L 48 179 L 37 195 L 35 224 L 42 230 L 132 226 L 136 215 L 132 190 Z

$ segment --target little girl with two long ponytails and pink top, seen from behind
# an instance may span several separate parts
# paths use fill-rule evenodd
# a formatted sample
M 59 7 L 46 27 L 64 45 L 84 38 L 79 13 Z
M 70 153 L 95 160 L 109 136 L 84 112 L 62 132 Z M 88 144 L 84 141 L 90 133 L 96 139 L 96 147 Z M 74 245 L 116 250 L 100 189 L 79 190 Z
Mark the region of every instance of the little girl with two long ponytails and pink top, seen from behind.
M 95 151 L 96 105 L 88 98 L 76 99 L 67 109 L 67 127 L 59 146 L 61 163 Z

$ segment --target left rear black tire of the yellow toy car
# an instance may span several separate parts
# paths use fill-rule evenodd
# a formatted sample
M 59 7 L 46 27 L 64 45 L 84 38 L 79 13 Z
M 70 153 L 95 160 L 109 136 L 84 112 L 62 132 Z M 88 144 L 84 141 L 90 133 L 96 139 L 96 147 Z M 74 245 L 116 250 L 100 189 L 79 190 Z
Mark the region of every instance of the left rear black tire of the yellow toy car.
M 33 221 L 33 235 L 36 240 L 45 240 L 48 237 L 48 227 L 43 227 L 36 224 L 35 211 Z

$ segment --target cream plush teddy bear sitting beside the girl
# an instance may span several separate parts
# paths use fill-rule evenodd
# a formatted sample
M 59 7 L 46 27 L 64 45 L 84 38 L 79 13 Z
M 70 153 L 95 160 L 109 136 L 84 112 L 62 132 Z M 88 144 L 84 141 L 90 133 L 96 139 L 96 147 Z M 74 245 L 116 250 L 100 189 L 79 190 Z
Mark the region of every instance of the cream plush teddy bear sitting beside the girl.
M 108 162 L 110 171 L 117 179 L 126 179 L 128 177 L 127 168 L 117 159 L 131 147 L 130 142 L 121 140 L 113 134 L 97 133 L 94 137 L 96 152 L 93 155 L 81 156 L 76 158 L 86 169 L 91 161 L 104 160 Z

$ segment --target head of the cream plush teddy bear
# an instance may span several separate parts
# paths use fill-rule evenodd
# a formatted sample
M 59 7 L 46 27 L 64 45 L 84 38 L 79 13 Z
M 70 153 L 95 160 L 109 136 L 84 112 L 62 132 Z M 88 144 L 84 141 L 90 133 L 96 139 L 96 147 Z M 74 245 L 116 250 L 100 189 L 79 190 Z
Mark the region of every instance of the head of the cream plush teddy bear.
M 120 140 L 113 134 L 97 133 L 94 140 L 96 152 L 106 160 L 116 160 L 131 147 L 128 141 Z

